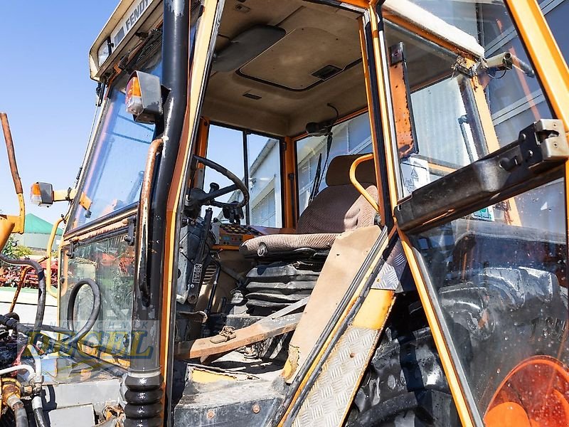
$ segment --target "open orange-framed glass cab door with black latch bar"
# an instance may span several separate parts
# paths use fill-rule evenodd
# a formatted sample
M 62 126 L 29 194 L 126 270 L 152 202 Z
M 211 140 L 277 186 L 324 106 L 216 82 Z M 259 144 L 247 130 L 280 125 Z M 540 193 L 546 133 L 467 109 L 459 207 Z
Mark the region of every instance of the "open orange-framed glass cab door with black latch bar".
M 459 417 L 565 426 L 565 60 L 533 0 L 373 18 L 393 218 Z

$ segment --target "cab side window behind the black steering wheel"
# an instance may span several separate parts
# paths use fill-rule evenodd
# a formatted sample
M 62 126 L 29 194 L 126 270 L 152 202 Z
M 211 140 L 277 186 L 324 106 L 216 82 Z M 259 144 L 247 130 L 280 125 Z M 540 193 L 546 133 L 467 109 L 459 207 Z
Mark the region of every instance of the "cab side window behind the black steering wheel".
M 252 226 L 282 227 L 282 191 L 280 141 L 243 130 L 211 125 L 208 137 L 208 159 L 221 164 L 247 184 L 250 194 L 243 210 L 243 223 Z M 230 185 L 225 176 L 206 168 L 203 188 L 212 182 Z M 237 201 L 240 191 L 222 196 L 219 201 Z M 225 221 L 221 209 L 213 208 L 213 217 Z

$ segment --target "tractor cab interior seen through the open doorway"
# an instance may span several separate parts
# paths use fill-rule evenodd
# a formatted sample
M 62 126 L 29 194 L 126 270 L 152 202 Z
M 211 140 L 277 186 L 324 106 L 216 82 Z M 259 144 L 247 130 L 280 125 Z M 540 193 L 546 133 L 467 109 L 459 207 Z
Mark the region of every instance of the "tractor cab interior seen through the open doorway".
M 373 157 L 356 169 L 366 195 L 349 176 L 353 162 L 381 143 L 368 117 L 362 12 L 304 0 L 225 2 L 180 234 L 178 359 L 275 378 L 293 334 L 317 339 L 318 328 L 297 325 L 314 289 L 327 285 L 321 272 L 350 263 L 329 256 L 336 238 L 378 233 L 381 218 L 368 201 L 379 202 Z M 388 43 L 410 39 L 392 27 Z M 408 58 L 425 61 L 409 76 L 414 88 L 450 75 L 455 60 L 418 43 L 409 44 Z M 246 197 L 223 169 L 243 181 Z M 280 313 L 296 316 L 288 328 L 255 334 L 255 324 Z M 250 339 L 240 330 L 251 330 Z

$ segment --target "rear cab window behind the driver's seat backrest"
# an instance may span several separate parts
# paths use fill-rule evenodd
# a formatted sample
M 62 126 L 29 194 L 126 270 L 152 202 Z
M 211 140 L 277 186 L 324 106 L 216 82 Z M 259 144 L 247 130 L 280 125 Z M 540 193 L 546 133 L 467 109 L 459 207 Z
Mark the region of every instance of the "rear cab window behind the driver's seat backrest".
M 318 176 L 319 191 L 326 187 L 326 170 L 331 159 L 343 154 L 371 153 L 371 130 L 367 113 L 358 115 L 332 127 L 332 144 L 326 161 L 327 137 L 304 137 L 297 140 L 299 214 L 307 208 L 310 194 Z

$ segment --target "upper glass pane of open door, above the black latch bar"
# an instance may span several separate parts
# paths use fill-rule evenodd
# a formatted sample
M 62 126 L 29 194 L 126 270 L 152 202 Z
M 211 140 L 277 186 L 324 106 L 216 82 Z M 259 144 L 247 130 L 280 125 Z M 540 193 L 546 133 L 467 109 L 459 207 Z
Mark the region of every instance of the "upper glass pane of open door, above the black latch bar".
M 392 97 L 397 102 L 400 85 L 394 78 L 402 69 L 409 95 L 408 111 L 395 110 L 400 198 L 516 141 L 533 122 L 553 117 L 503 1 L 413 3 L 455 26 L 457 43 L 479 43 L 485 60 L 469 62 L 457 51 L 386 25 Z M 393 55 L 398 46 L 403 61 Z M 402 150 L 409 134 L 412 149 Z

